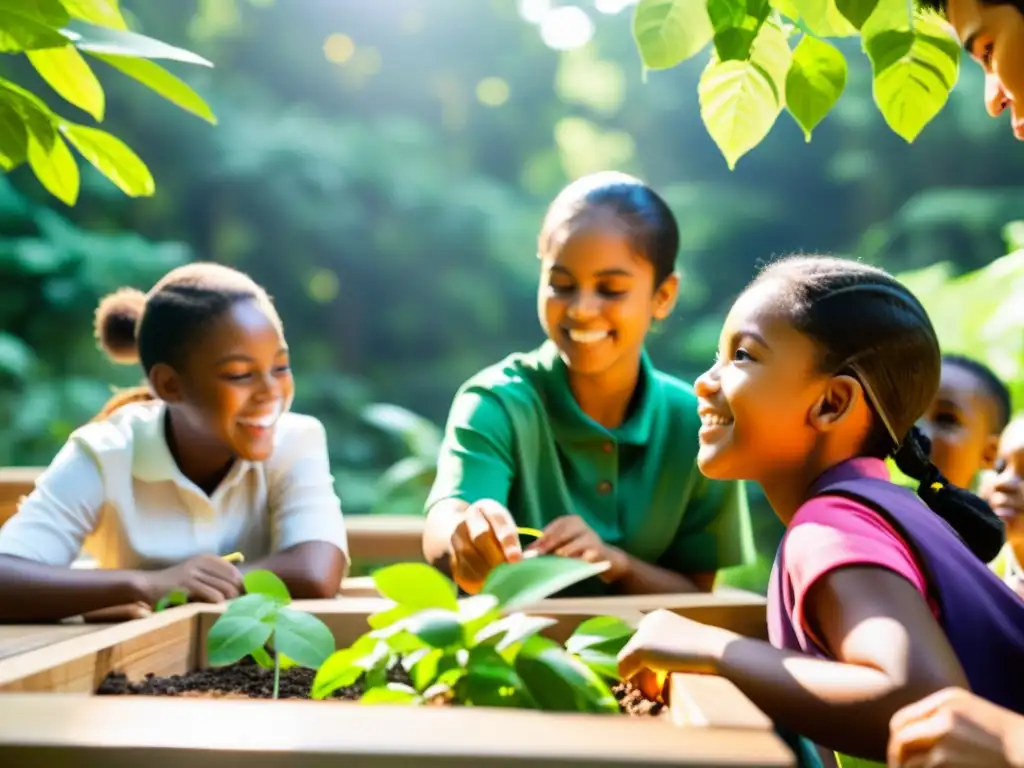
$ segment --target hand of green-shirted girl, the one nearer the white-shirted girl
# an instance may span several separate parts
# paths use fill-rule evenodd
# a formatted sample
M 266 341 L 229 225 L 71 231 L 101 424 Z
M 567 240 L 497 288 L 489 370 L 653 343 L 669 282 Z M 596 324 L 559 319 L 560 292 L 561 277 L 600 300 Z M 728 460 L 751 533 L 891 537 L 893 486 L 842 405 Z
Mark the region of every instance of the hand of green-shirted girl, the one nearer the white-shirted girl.
M 522 559 L 519 532 L 512 514 L 496 501 L 479 501 L 463 513 L 452 531 L 452 578 L 475 595 L 487 574 L 503 562 Z

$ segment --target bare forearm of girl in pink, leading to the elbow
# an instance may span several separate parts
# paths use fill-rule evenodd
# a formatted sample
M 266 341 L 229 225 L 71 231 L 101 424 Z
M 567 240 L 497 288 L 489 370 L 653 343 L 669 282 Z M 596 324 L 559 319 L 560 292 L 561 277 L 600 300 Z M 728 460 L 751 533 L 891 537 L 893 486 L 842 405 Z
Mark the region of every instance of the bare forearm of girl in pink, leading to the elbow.
M 877 669 L 738 636 L 727 644 L 718 672 L 774 722 L 830 750 L 882 762 L 893 714 L 943 687 L 897 682 Z

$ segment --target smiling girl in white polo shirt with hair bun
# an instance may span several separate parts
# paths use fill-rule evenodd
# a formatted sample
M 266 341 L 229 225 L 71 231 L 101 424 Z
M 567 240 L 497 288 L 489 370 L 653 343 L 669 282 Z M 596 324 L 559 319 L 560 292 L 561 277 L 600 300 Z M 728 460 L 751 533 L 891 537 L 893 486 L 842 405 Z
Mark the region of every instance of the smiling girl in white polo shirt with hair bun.
M 247 568 L 274 571 L 296 598 L 336 595 L 348 543 L 327 437 L 289 411 L 266 292 L 190 264 L 147 295 L 108 296 L 96 335 L 148 385 L 75 431 L 0 528 L 0 621 L 129 617 L 172 590 L 219 602 Z M 70 567 L 83 550 L 98 568 Z M 233 552 L 243 565 L 223 559 Z

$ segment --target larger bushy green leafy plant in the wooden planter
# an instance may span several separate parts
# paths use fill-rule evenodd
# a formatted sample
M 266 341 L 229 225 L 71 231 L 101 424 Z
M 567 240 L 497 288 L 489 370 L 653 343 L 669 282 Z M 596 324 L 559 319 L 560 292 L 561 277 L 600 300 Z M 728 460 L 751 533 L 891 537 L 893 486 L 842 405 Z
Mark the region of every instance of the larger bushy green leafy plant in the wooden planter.
M 607 563 L 542 556 L 495 568 L 480 594 L 458 598 L 455 584 L 424 563 L 374 573 L 395 605 L 370 616 L 371 632 L 319 667 L 311 697 L 326 698 L 365 678 L 365 703 L 438 699 L 477 707 L 617 713 L 608 682 L 618 682 L 615 654 L 633 629 L 611 616 L 584 622 L 562 647 L 540 633 L 556 624 L 515 612 Z M 412 685 L 388 682 L 400 664 Z

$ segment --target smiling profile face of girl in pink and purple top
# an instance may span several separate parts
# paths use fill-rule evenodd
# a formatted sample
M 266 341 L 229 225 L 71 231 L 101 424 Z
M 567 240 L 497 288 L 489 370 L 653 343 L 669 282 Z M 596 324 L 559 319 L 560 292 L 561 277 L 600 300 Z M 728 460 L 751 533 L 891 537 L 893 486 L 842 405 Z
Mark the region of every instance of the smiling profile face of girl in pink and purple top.
M 774 309 L 777 284 L 754 286 L 726 317 L 715 366 L 696 381 L 700 471 L 760 481 L 805 464 L 809 414 L 826 377 L 813 340 Z

